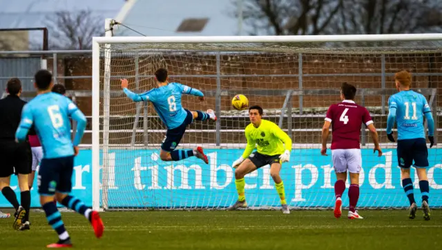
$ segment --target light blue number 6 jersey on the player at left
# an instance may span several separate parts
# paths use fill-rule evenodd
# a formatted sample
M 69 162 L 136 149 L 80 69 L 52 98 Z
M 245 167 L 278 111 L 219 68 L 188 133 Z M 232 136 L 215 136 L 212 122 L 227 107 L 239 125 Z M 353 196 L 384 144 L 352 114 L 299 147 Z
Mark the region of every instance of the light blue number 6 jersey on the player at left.
M 74 142 L 70 139 L 69 117 L 77 121 Z M 80 143 L 86 117 L 66 96 L 48 92 L 39 94 L 23 107 L 21 122 L 15 134 L 17 140 L 26 139 L 32 124 L 43 147 L 43 158 L 61 158 L 74 155 L 73 146 Z

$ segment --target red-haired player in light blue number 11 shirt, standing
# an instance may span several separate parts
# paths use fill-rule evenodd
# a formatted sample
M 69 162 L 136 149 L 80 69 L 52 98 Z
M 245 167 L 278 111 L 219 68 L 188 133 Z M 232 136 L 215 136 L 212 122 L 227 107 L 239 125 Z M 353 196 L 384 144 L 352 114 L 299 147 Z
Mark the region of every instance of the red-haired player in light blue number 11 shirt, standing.
M 387 118 L 387 136 L 390 141 L 394 142 L 392 128 L 396 119 L 398 129 L 398 164 L 401 167 L 402 186 L 408 200 L 410 200 L 409 217 L 414 219 L 417 210 L 417 205 L 414 201 L 413 182 L 410 178 L 410 166 L 413 165 L 413 167 L 416 167 L 419 178 L 423 218 L 430 220 L 430 207 L 428 206 L 430 187 L 428 185 L 426 169 L 429 163 L 423 116 L 427 118 L 430 147 L 434 143 L 433 116 L 425 96 L 410 90 L 412 82 L 412 74 L 410 72 L 401 70 L 394 75 L 394 80 L 399 92 L 390 96 L 388 101 L 390 112 Z

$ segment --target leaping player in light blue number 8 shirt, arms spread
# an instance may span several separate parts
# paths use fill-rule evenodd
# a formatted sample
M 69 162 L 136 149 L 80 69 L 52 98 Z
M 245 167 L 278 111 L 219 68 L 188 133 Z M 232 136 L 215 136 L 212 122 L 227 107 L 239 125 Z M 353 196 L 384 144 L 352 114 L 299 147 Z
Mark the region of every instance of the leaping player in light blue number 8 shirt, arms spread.
M 155 71 L 155 79 L 157 80 L 158 87 L 143 94 L 135 94 L 128 90 L 128 81 L 126 79 L 122 79 L 122 89 L 132 101 L 150 101 L 158 116 L 166 125 L 166 138 L 161 145 L 160 158 L 165 161 L 176 161 L 196 156 L 204 160 L 204 163 L 209 164 L 209 160 L 204 154 L 202 147 L 196 147 L 193 150 L 175 150 L 184 132 L 186 132 L 187 125 L 191 124 L 193 119 L 197 121 L 206 121 L 207 119 L 216 121 L 213 110 L 207 110 L 206 113 L 201 111 L 190 112 L 181 105 L 182 94 L 198 96 L 200 101 L 204 101 L 204 94 L 200 90 L 180 83 L 169 83 L 167 70 L 163 68 Z

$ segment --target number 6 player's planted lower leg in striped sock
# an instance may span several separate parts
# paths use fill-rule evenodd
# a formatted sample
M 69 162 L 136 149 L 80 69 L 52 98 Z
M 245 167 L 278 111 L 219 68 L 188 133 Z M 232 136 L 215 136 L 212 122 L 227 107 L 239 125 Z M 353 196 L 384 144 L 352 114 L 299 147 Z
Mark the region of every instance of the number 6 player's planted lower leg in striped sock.
M 64 227 L 63 220 L 61 220 L 61 213 L 57 210 L 57 206 L 55 206 L 54 202 L 52 202 L 52 197 L 49 196 L 41 196 L 41 202 L 44 203 L 42 205 L 44 212 L 46 213 L 46 219 L 49 222 L 49 225 L 54 229 L 58 234 L 58 242 L 48 244 L 48 248 L 61 248 L 61 247 L 72 247 L 72 242 L 70 242 L 70 237 L 68 231 Z

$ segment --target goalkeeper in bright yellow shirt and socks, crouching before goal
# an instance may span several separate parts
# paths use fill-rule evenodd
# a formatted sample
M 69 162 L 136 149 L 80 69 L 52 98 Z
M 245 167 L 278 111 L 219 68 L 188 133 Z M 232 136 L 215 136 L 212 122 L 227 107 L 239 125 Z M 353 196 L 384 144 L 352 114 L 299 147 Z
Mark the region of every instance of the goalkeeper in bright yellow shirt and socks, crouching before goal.
M 247 207 L 244 194 L 244 176 L 256 169 L 270 165 L 270 176 L 275 181 L 276 191 L 281 200 L 282 213 L 290 213 L 285 201 L 284 183 L 279 176 L 281 163 L 290 160 L 291 139 L 271 121 L 262 119 L 262 107 L 255 105 L 249 108 L 251 124 L 245 129 L 247 146 L 242 156 L 233 162 L 235 169 L 235 185 L 238 190 L 238 201 L 230 209 Z M 258 146 L 256 146 L 258 145 Z M 257 147 L 257 151 L 253 149 Z M 245 159 L 245 160 L 244 160 Z

